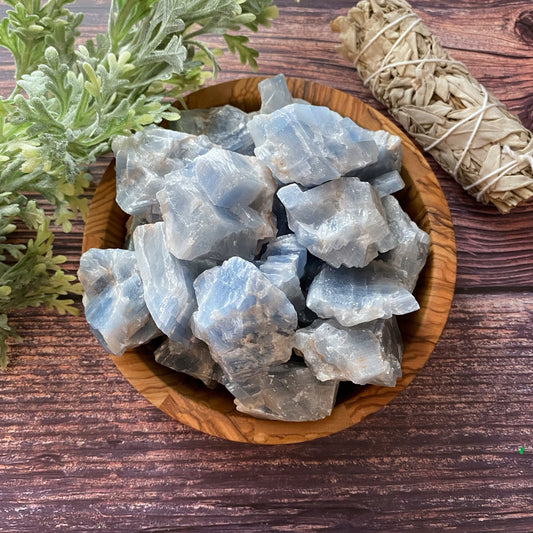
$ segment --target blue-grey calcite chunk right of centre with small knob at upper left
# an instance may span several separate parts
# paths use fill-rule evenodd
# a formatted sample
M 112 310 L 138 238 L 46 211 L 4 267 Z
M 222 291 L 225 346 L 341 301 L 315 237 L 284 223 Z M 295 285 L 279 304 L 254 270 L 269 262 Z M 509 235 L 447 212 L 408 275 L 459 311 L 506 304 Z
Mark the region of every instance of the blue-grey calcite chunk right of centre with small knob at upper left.
M 396 244 L 377 193 L 357 178 L 277 194 L 298 242 L 334 267 L 363 267 Z

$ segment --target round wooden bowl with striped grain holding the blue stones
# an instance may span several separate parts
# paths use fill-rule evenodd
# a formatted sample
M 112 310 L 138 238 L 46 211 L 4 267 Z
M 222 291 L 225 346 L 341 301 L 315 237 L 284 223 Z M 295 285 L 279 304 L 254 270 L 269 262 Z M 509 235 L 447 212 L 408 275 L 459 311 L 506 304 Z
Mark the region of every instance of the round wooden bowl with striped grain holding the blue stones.
M 257 84 L 247 78 L 199 90 L 186 98 L 189 108 L 232 104 L 245 111 L 260 106 Z M 316 439 L 345 429 L 390 402 L 428 360 L 446 323 L 455 286 L 455 240 L 448 205 L 428 163 L 411 140 L 390 120 L 357 98 L 298 79 L 288 79 L 293 96 L 324 105 L 352 118 L 367 129 L 385 129 L 402 138 L 402 176 L 406 188 L 396 196 L 417 224 L 429 233 L 431 249 L 415 296 L 420 310 L 400 317 L 405 344 L 403 376 L 396 387 L 345 385 L 333 413 L 317 422 L 260 420 L 235 410 L 222 387 L 207 389 L 184 374 L 154 361 L 147 348 L 111 356 L 126 379 L 156 407 L 205 433 L 225 439 L 260 444 L 285 444 Z M 128 216 L 115 203 L 115 170 L 111 164 L 96 189 L 83 238 L 89 248 L 121 247 Z

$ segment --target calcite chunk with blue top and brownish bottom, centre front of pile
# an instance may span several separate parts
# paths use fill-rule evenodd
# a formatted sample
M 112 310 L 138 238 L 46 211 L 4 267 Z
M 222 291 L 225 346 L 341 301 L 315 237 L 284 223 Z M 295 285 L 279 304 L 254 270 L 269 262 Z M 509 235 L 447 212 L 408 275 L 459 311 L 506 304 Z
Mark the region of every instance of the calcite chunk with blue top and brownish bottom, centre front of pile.
M 247 383 L 289 360 L 297 326 L 293 305 L 252 263 L 239 257 L 194 282 L 192 330 L 231 382 Z

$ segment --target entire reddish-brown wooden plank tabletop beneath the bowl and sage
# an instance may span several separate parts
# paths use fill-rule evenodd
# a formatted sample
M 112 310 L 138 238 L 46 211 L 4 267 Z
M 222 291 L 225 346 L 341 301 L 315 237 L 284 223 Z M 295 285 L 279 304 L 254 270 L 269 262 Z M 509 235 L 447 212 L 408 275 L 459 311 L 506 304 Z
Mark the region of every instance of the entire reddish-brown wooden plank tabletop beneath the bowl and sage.
M 75 4 L 86 36 L 103 29 L 108 4 Z M 412 4 L 531 128 L 531 4 Z M 351 5 L 279 0 L 280 18 L 253 39 L 259 74 L 315 80 L 383 110 L 334 50 L 328 23 Z M 220 81 L 249 74 L 233 57 L 222 64 Z M 12 76 L 1 51 L 4 95 Z M 25 342 L 0 375 L 0 531 L 532 532 L 533 203 L 499 215 L 430 163 L 455 225 L 457 290 L 429 362 L 394 401 L 309 443 L 227 442 L 135 392 L 83 317 L 27 310 L 14 320 Z M 57 233 L 72 272 L 82 233 L 81 221 Z

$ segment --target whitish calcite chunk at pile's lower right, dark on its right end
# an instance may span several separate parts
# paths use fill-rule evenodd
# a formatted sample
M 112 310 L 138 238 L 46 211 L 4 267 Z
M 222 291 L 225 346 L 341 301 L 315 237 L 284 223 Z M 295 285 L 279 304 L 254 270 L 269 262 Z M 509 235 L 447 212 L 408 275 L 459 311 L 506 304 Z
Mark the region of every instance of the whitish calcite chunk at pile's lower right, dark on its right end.
M 321 381 L 394 387 L 401 376 L 403 343 L 394 318 L 346 328 L 336 320 L 316 320 L 299 329 L 294 347 Z

